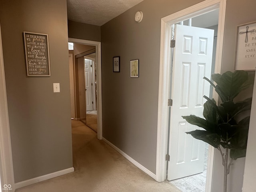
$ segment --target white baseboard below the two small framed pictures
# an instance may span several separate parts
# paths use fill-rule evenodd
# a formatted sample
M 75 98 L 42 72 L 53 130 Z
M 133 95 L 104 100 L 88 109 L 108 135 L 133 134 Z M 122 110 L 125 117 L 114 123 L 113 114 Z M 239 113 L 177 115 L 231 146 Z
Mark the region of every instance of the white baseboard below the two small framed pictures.
M 154 180 L 156 180 L 156 174 L 152 173 L 150 170 L 148 170 L 146 167 L 139 164 L 136 160 L 128 156 L 126 153 L 124 153 L 122 150 L 117 148 L 114 144 L 106 140 L 104 137 L 102 137 L 102 140 L 106 142 L 108 145 L 110 145 L 112 148 L 114 148 L 117 152 L 119 152 L 122 156 L 124 156 L 127 160 L 129 160 L 132 164 L 134 164 L 136 167 L 138 167 L 140 170 L 148 174 L 150 177 L 152 177 Z

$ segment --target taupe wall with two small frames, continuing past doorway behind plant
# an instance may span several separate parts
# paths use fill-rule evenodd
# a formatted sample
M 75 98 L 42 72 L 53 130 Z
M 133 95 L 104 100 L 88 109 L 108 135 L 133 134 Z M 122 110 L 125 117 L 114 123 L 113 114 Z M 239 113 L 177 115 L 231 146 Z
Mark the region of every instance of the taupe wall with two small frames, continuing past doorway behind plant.
M 103 137 L 156 173 L 160 20 L 202 0 L 144 0 L 101 27 Z M 256 20 L 255 0 L 227 0 L 222 72 L 234 70 L 236 27 Z M 143 12 L 140 23 L 134 14 Z M 120 73 L 112 57 L 120 56 Z M 129 61 L 140 60 L 140 77 L 130 78 Z M 248 95 L 249 97 L 250 95 Z M 232 166 L 229 191 L 241 192 L 244 158 Z M 212 192 L 222 190 L 223 167 L 214 163 Z M 232 185 L 232 187 L 231 187 Z

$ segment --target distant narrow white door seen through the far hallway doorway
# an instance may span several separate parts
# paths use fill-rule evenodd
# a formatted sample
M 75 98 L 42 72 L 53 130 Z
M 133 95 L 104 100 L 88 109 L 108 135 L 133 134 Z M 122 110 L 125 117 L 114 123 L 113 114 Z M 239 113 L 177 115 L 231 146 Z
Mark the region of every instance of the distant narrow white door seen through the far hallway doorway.
M 86 111 L 92 111 L 92 70 L 91 60 L 84 60 L 84 79 L 85 79 L 85 96 L 86 96 Z

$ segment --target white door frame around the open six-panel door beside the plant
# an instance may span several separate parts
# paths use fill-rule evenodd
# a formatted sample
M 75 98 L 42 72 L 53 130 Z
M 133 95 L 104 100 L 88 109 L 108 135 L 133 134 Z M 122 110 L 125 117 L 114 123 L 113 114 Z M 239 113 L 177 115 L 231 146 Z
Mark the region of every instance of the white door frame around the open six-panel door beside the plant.
M 171 14 L 161 20 L 160 42 L 160 72 L 158 92 L 158 125 L 157 125 L 157 149 L 156 149 L 156 180 L 162 182 L 166 179 L 166 154 L 168 136 L 168 99 L 170 93 L 170 40 L 171 26 L 183 20 L 205 14 L 219 9 L 218 39 L 216 48 L 216 64 L 214 73 L 221 72 L 222 49 L 224 39 L 224 24 L 226 12 L 226 0 L 205 0 L 194 6 Z M 218 101 L 218 94 L 213 93 L 213 98 Z M 212 168 L 214 148 L 209 146 L 208 168 L 206 178 L 206 192 L 211 191 Z

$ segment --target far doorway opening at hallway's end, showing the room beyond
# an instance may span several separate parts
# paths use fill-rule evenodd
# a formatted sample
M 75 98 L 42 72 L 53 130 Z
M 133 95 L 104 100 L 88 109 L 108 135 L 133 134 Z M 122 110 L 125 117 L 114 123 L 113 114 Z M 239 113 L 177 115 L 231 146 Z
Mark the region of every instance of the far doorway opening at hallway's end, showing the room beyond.
M 71 118 L 74 115 L 75 120 L 97 132 L 96 47 L 69 42 L 69 54 L 73 56 L 70 59 L 71 109 L 75 109 L 74 114 L 71 110 Z

